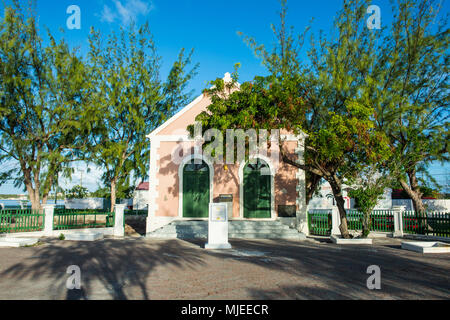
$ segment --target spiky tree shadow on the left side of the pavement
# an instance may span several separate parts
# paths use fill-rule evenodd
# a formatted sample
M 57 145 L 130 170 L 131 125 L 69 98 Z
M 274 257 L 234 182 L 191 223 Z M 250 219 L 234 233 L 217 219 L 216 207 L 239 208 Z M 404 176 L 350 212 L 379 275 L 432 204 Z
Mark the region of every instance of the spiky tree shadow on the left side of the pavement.
M 156 267 L 170 265 L 184 269 L 204 264 L 199 250 L 178 240 L 48 240 L 44 246 L 33 249 L 36 251 L 32 257 L 11 265 L 0 277 L 28 279 L 30 283 L 48 279 L 48 289 L 54 293 L 52 299 L 90 299 L 100 290 L 99 299 L 126 300 L 129 288 L 140 292 L 140 299 L 150 299 L 151 288 L 146 287 L 145 281 Z M 80 290 L 66 288 L 70 277 L 66 270 L 71 265 L 80 267 Z

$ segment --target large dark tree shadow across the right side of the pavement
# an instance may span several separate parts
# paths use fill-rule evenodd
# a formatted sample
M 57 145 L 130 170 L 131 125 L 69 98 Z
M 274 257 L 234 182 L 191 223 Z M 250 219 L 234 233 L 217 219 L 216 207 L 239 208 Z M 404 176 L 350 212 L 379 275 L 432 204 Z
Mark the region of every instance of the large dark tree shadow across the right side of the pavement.
M 266 253 L 261 258 L 249 257 L 243 261 L 300 278 L 299 285 L 276 289 L 249 287 L 253 299 L 450 298 L 448 255 L 424 256 L 388 246 L 343 247 L 284 240 L 230 240 L 230 243 L 240 250 Z M 226 251 L 213 254 L 229 255 Z M 367 288 L 370 265 L 381 269 L 381 290 Z

